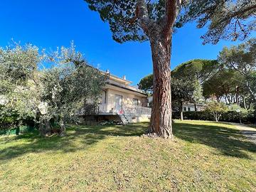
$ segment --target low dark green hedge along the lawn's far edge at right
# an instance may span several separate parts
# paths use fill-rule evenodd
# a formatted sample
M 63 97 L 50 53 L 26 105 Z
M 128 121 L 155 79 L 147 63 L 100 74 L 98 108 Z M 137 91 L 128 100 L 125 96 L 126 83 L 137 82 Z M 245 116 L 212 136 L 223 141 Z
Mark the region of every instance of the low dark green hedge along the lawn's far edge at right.
M 181 119 L 181 112 L 173 112 L 174 119 Z M 212 114 L 206 111 L 201 112 L 183 112 L 183 119 L 189 120 L 204 120 L 215 121 Z M 255 124 L 256 116 L 254 112 L 248 114 L 241 114 L 242 123 Z M 238 112 L 230 111 L 221 114 L 220 122 L 240 122 L 240 114 Z

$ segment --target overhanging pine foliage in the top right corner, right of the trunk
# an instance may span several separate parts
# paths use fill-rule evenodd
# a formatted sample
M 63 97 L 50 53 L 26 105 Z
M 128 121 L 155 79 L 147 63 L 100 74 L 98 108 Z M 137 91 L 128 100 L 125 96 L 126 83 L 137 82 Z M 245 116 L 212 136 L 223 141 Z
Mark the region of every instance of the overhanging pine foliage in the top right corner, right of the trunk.
M 203 43 L 218 43 L 220 39 L 244 40 L 255 31 L 256 1 L 196 0 L 190 1 L 178 23 L 182 26 L 196 21 L 198 28 L 208 26 Z

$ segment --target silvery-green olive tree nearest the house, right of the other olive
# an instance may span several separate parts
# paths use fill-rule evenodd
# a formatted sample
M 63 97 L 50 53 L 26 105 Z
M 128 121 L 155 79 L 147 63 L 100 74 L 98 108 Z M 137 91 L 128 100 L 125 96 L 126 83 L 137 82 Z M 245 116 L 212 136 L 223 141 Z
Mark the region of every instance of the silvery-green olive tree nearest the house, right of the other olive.
M 50 131 L 49 122 L 53 120 L 59 124 L 60 136 L 63 136 L 67 122 L 77 120 L 85 101 L 98 101 L 105 76 L 88 65 L 82 54 L 75 51 L 73 44 L 55 52 L 50 60 L 57 65 L 43 71 L 41 122 L 46 122 L 47 127 L 40 129 L 47 134 Z

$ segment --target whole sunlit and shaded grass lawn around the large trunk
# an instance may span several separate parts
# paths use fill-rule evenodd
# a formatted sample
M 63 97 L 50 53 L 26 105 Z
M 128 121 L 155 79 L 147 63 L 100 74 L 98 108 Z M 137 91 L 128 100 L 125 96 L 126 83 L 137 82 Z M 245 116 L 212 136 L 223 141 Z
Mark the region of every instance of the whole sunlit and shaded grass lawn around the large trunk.
M 178 121 L 174 141 L 147 126 L 0 138 L 0 191 L 256 191 L 256 145 L 233 125 Z

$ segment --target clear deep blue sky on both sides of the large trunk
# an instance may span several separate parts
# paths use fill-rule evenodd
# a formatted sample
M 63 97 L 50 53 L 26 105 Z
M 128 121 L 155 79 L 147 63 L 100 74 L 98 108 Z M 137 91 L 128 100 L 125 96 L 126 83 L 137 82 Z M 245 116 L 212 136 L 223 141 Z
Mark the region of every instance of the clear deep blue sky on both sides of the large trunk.
M 116 43 L 108 24 L 83 0 L 1 0 L 0 27 L 0 46 L 7 46 L 14 38 L 55 50 L 57 46 L 69 46 L 73 40 L 89 63 L 114 75 L 127 75 L 134 85 L 152 71 L 149 43 Z M 200 36 L 205 32 L 195 23 L 178 29 L 171 68 L 194 58 L 215 59 L 223 46 L 234 44 L 220 41 L 215 46 L 203 46 Z

